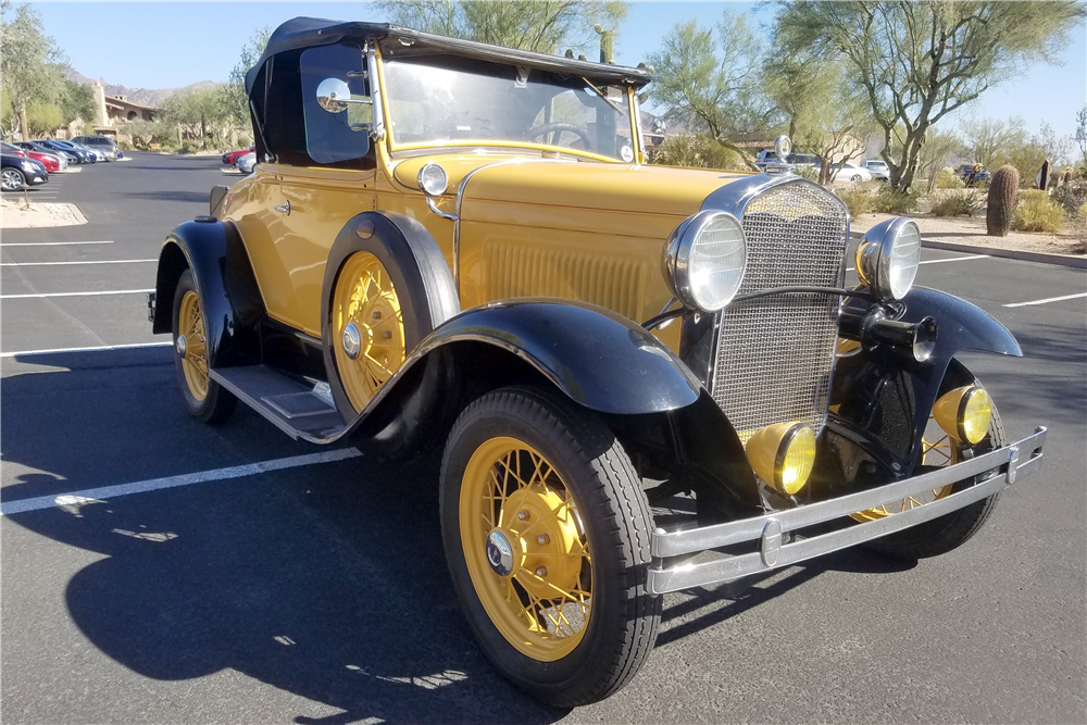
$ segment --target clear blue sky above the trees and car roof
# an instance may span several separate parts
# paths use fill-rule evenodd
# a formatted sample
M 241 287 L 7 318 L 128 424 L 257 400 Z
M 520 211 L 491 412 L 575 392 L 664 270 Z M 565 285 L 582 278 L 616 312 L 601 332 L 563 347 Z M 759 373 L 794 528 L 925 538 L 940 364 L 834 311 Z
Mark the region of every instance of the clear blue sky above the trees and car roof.
M 241 47 L 264 25 L 296 15 L 383 21 L 367 2 L 35 2 L 42 24 L 85 76 L 130 88 L 176 88 L 226 80 Z M 715 25 L 730 5 L 751 12 L 752 2 L 630 2 L 616 38 L 616 61 L 637 65 L 661 46 L 678 22 Z M 754 10 L 767 23 L 770 11 Z M 965 113 L 1022 117 L 1030 132 L 1042 121 L 1073 134 L 1075 114 L 1087 102 L 1087 30 L 1072 34 L 1064 65 L 1036 65 L 989 89 Z M 942 124 L 941 124 L 942 125 Z

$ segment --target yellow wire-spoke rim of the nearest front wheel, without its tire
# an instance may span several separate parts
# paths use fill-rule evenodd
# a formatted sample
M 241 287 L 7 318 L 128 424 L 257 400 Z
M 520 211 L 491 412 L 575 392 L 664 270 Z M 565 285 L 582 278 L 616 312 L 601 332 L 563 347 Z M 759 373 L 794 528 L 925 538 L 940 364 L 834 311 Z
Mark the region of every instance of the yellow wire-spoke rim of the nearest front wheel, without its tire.
M 468 575 L 499 633 L 540 662 L 570 654 L 592 613 L 592 557 L 554 466 L 516 438 L 486 440 L 464 470 L 459 517 Z

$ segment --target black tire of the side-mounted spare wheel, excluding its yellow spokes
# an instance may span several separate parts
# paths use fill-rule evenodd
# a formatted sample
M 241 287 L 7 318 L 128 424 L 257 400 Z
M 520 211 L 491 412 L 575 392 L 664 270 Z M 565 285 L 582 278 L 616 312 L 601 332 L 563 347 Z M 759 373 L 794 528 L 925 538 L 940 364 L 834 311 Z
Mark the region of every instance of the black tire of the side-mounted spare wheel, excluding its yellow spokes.
M 358 229 L 366 232 L 362 235 Z M 321 340 L 328 386 L 345 423 L 357 411 L 340 382 L 336 352 L 341 330 L 334 329 L 333 295 L 340 270 L 353 254 L 373 254 L 388 272 L 403 321 L 404 352 L 410 354 L 435 327 L 460 312 L 460 298 L 441 248 L 417 221 L 391 212 L 366 212 L 348 222 L 328 255 L 321 310 Z

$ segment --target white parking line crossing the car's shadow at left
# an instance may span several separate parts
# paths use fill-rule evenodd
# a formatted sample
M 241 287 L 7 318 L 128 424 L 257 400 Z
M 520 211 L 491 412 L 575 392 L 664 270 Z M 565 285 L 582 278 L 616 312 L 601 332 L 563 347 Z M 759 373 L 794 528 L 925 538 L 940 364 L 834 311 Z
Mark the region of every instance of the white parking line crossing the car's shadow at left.
M 262 461 L 260 463 L 248 463 L 246 465 L 235 465 L 228 468 L 213 468 L 212 471 L 199 471 L 187 473 L 180 476 L 168 476 L 166 478 L 152 478 L 150 480 L 138 480 L 133 484 L 120 484 L 117 486 L 103 486 L 101 488 L 88 488 L 83 491 L 73 491 L 60 496 L 39 496 L 34 499 L 23 499 L 21 501 L 8 501 L 0 503 L 0 516 L 9 516 L 13 513 L 25 513 L 27 511 L 40 511 L 53 507 L 75 507 L 78 509 L 88 503 L 102 503 L 104 499 L 112 499 L 118 496 L 129 496 L 130 493 L 146 493 L 147 491 L 158 491 L 163 488 L 176 488 L 178 486 L 190 486 L 192 484 L 203 484 L 210 480 L 228 480 L 232 478 L 243 478 L 254 476 L 268 471 L 283 471 L 285 468 L 297 468 L 303 465 L 314 465 L 316 463 L 332 463 L 334 461 L 346 461 L 362 455 L 358 448 L 341 448 L 335 451 L 322 453 L 307 453 L 305 455 L 292 455 L 273 461 Z

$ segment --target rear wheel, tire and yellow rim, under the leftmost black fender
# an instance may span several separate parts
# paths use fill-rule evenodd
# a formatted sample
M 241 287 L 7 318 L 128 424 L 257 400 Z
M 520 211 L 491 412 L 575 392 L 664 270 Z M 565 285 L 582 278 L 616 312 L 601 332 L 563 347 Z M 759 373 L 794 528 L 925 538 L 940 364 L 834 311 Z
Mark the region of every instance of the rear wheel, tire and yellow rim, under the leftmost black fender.
M 220 423 L 234 412 L 238 399 L 208 374 L 208 339 L 200 295 L 186 270 L 174 293 L 174 366 L 185 408 L 204 423 Z

